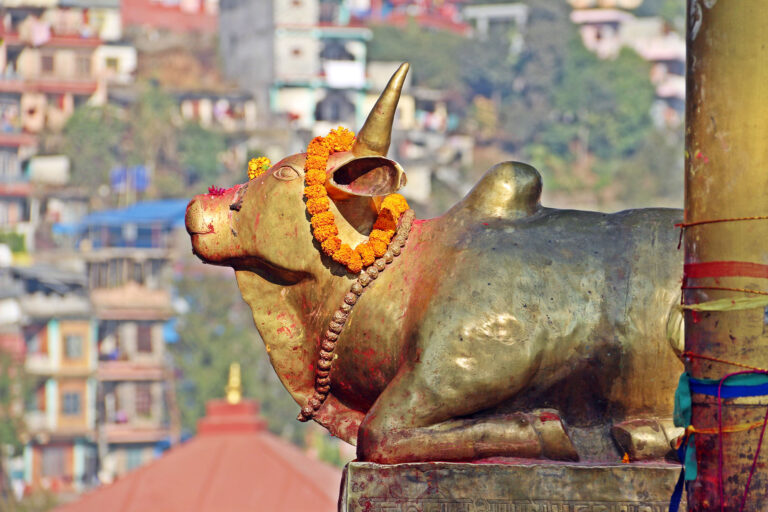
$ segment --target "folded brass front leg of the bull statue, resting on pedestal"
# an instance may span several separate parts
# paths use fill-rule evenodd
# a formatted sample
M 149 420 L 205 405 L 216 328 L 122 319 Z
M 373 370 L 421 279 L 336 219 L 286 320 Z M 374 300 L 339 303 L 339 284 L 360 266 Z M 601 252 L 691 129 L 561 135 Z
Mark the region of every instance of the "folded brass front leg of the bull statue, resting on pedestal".
M 461 461 L 488 457 L 578 460 L 556 412 L 537 410 L 469 418 L 522 389 L 530 375 L 498 379 L 443 360 L 429 351 L 401 368 L 368 411 L 358 431 L 358 459 L 378 463 Z M 453 361 L 456 363 L 456 361 Z M 531 369 L 532 371 L 533 369 Z M 494 378 L 493 376 L 496 376 Z

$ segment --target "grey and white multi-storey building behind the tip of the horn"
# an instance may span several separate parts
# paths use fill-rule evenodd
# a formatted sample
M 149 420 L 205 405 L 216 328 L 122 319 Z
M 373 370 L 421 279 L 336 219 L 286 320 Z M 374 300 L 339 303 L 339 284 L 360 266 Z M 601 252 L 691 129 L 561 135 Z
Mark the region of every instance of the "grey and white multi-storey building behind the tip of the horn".
M 253 93 L 261 120 L 283 114 L 295 127 L 359 126 L 367 112 L 369 29 L 348 24 L 320 0 L 222 0 L 225 74 Z M 318 127 L 322 131 L 324 127 Z

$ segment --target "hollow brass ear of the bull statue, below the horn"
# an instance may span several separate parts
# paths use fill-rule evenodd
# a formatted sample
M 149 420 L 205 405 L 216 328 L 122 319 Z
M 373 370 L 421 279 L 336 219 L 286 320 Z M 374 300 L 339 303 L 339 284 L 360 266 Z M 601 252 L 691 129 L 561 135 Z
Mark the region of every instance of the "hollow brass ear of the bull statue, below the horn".
M 394 160 L 363 156 L 338 162 L 329 170 L 326 189 L 334 199 L 380 197 L 397 192 L 405 183 L 405 172 Z

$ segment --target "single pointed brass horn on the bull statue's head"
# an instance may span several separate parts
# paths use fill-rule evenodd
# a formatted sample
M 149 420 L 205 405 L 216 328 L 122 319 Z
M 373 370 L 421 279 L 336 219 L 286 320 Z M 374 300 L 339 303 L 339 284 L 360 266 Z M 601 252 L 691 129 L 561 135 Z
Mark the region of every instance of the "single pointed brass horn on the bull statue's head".
M 368 119 L 357 134 L 352 153 L 355 156 L 387 156 L 392 136 L 392 122 L 400 101 L 400 91 L 405 83 L 410 64 L 404 62 L 389 79 L 389 83 L 376 101 Z

